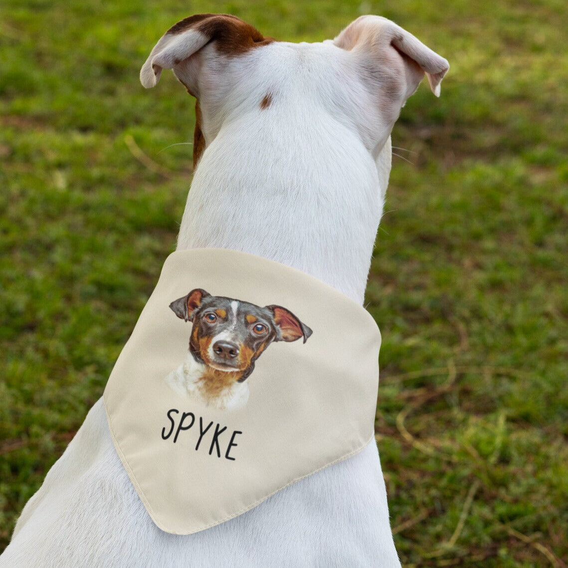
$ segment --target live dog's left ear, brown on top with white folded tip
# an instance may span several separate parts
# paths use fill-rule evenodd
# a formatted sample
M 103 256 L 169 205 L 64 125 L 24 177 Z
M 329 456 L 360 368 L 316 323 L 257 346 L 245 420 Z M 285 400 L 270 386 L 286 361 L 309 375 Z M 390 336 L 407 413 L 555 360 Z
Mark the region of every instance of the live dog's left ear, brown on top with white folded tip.
M 148 89 L 160 80 L 162 69 L 173 69 L 190 93 L 199 97 L 197 73 L 201 62 L 190 59 L 205 45 L 214 44 L 219 53 L 231 57 L 270 41 L 273 40 L 236 16 L 195 14 L 172 26 L 160 38 L 140 70 L 140 82 Z

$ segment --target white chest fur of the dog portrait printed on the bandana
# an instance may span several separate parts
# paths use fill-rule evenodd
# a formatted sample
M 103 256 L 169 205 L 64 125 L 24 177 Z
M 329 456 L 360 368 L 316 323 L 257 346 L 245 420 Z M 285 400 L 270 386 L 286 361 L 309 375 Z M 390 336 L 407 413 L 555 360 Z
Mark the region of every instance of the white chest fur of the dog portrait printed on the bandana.
M 208 404 L 208 398 L 203 396 L 200 388 L 201 383 L 199 382 L 205 370 L 206 365 L 195 361 L 193 355 L 188 352 L 185 361 L 164 380 L 178 394 Z M 226 410 L 239 410 L 239 408 L 244 408 L 248 398 L 248 381 L 242 383 L 235 382 L 215 398 L 214 406 L 215 408 Z

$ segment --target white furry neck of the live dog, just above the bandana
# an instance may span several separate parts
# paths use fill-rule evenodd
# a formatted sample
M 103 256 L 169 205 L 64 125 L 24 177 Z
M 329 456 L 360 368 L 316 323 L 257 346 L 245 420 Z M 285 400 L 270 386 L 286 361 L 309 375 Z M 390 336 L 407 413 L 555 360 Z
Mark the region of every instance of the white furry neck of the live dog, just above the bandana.
M 228 248 L 313 275 L 362 304 L 391 165 L 339 123 L 329 145 L 281 124 L 223 127 L 195 172 L 178 249 Z M 274 122 L 274 121 L 273 121 Z M 321 127 L 321 125 L 320 125 Z M 321 146 L 321 147 L 320 147 Z M 259 156 L 278 155 L 279 160 Z

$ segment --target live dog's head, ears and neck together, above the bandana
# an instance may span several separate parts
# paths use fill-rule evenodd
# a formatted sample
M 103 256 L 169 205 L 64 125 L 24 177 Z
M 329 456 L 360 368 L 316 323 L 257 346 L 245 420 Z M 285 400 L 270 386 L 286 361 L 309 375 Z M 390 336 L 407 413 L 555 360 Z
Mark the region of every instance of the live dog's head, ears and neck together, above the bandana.
M 176 24 L 140 72 L 152 87 L 173 69 L 198 99 L 178 247 L 257 254 L 362 303 L 392 127 L 424 73 L 439 95 L 448 62 L 379 16 L 298 44 L 204 17 L 215 26 Z

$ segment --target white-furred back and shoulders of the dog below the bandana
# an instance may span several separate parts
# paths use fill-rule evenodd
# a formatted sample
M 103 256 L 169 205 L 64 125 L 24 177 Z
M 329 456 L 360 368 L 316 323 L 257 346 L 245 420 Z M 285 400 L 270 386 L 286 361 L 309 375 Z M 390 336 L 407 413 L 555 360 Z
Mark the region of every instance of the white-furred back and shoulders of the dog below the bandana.
M 375 444 L 244 515 L 176 536 L 160 531 L 140 502 L 99 400 L 24 508 L 0 566 L 343 568 L 398 559 Z

